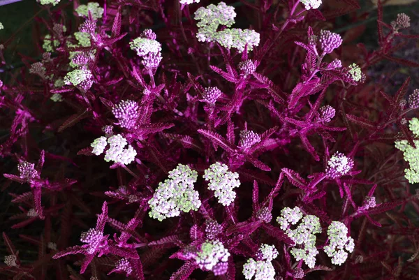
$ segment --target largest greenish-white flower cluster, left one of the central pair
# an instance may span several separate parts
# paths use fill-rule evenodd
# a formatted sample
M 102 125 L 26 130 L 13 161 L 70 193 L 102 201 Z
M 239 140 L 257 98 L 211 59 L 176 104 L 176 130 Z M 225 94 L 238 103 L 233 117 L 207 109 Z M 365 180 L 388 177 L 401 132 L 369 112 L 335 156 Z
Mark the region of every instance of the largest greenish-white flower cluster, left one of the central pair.
M 159 187 L 149 200 L 153 219 L 163 219 L 179 216 L 180 212 L 197 211 L 201 205 L 198 191 L 193 184 L 198 179 L 198 173 L 189 166 L 179 164 L 169 172 L 169 179 L 159 183 Z

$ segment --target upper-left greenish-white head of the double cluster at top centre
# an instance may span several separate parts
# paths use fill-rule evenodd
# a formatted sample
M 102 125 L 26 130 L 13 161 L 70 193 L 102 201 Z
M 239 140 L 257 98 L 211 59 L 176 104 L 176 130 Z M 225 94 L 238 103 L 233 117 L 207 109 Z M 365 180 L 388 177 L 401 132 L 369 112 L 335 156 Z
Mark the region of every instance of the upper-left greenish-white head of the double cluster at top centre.
M 198 20 L 198 34 L 200 42 L 212 42 L 219 25 L 231 27 L 234 24 L 236 13 L 234 7 L 220 2 L 215 6 L 210 4 L 207 8 L 200 7 L 195 12 L 195 20 Z

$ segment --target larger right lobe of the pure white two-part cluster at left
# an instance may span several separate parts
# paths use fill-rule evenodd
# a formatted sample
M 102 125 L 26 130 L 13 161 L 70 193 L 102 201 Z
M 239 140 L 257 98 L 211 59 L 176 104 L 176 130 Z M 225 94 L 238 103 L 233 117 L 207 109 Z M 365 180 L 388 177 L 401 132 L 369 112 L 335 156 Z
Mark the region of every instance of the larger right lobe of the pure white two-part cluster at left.
M 133 162 L 137 152 L 131 145 L 128 145 L 128 148 L 125 149 L 126 143 L 126 139 L 120 134 L 108 138 L 110 147 L 105 152 L 105 161 L 115 161 L 124 165 Z

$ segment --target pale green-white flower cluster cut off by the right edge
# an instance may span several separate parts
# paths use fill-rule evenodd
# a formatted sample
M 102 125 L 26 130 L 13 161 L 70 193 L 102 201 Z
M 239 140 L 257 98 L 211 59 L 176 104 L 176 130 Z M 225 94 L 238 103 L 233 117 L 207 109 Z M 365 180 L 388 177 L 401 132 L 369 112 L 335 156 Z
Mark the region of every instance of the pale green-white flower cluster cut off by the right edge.
M 409 121 L 409 129 L 416 135 L 419 136 L 419 119 L 413 118 Z M 395 142 L 397 149 L 403 152 L 404 160 L 409 163 L 409 168 L 404 170 L 404 177 L 411 184 L 419 183 L 419 140 L 413 140 L 416 148 L 409 145 L 407 140 L 400 140 Z

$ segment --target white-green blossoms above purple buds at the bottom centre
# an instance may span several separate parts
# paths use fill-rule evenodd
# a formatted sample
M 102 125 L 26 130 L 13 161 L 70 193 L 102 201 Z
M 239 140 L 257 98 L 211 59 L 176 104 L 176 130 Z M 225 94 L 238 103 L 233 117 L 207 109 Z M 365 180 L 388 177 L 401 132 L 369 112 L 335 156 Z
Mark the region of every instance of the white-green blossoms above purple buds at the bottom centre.
M 201 270 L 212 270 L 218 263 L 226 263 L 230 253 L 219 240 L 207 240 L 196 254 L 196 264 Z

